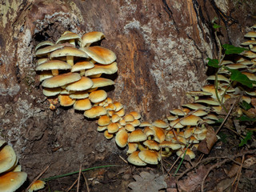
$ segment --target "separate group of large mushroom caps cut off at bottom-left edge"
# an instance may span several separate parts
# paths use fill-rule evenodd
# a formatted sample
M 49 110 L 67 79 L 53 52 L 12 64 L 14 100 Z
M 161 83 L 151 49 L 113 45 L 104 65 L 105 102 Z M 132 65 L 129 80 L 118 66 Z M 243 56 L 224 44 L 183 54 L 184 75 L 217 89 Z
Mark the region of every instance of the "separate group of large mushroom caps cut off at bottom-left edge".
M 14 149 L 0 139 L 0 191 L 13 192 L 26 181 Z

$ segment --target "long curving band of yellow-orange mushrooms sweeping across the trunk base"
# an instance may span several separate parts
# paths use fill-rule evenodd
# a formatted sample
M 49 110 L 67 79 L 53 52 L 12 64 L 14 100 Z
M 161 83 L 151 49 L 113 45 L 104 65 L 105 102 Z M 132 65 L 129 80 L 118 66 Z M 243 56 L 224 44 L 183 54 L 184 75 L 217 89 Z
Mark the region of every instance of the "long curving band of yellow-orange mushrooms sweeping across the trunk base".
M 114 74 L 118 70 L 114 52 L 102 46 L 90 46 L 104 37 L 97 31 L 86 33 L 82 38 L 66 31 L 55 44 L 46 41 L 36 46 L 36 70 L 40 73 L 43 94 L 49 97 L 50 108 L 54 110 L 59 102 L 61 106 L 73 105 L 75 110 L 83 110 L 86 118 L 98 118 L 97 130 L 104 132 L 105 138 L 115 138 L 121 148 L 128 146 L 127 160 L 131 164 L 156 165 L 161 157 L 173 153 L 178 156 L 186 153 L 191 159 L 195 158 L 194 149 L 206 138 L 205 125 L 216 123 L 222 112 L 216 94 L 224 103 L 229 98 L 239 97 L 245 87 L 230 83 L 229 70 L 221 70 L 217 90 L 215 75 L 210 75 L 209 83 L 202 90 L 187 93 L 194 102 L 182 105 L 182 109 L 170 110 L 166 119 L 141 122 L 141 114 L 136 111 L 126 114 L 122 103 L 114 102 L 102 90 L 104 86 L 114 85 L 112 80 L 102 78 L 102 74 Z M 241 70 L 255 81 L 256 33 L 251 31 L 245 37 L 251 39 L 242 46 L 249 46 L 250 50 L 245 51 L 236 63 L 222 61 L 221 65 Z M 245 93 L 241 98 L 250 103 L 250 97 L 255 96 L 256 91 L 246 90 Z M 237 114 L 242 114 L 241 108 Z

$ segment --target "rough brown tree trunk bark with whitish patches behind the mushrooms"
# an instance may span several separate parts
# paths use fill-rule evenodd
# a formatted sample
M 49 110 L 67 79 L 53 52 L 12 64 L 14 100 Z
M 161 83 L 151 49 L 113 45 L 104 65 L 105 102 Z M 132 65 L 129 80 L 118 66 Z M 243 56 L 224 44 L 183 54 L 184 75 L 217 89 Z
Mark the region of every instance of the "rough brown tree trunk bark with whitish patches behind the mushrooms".
M 110 97 L 154 121 L 204 84 L 206 58 L 217 53 L 210 21 L 218 17 L 226 26 L 222 42 L 238 46 L 256 15 L 254 0 L 8 0 L 0 6 L 1 136 L 30 178 L 49 164 L 46 176 L 124 153 L 72 108 L 48 109 L 34 71 L 38 42 L 56 41 L 65 30 L 102 31 L 102 46 L 118 57 Z

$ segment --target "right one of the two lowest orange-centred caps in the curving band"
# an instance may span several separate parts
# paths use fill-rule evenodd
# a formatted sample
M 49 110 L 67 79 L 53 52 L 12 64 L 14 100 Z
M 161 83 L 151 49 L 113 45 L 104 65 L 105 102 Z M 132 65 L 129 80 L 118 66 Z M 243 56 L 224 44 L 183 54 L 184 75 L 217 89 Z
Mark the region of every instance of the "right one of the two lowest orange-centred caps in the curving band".
M 142 150 L 138 153 L 138 157 L 151 165 L 157 165 L 158 160 L 160 160 L 160 155 L 155 150 Z

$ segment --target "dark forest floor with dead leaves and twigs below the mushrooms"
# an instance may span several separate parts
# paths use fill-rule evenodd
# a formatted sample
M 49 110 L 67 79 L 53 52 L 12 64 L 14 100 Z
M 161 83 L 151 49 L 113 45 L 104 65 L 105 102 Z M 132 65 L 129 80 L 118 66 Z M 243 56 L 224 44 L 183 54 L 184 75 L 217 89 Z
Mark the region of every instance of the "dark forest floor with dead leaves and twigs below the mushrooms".
M 220 139 L 210 150 L 210 154 L 195 151 L 196 158 L 192 161 L 186 159 L 182 161 L 182 158 L 173 154 L 169 158 L 162 158 L 158 166 L 138 167 L 128 164 L 124 160 L 126 154 L 122 152 L 115 154 L 115 157 L 106 157 L 103 161 L 92 164 L 93 167 L 105 165 L 109 167 L 95 168 L 86 170 L 82 174 L 71 174 L 50 180 L 40 191 L 77 191 L 79 175 L 78 191 L 85 192 L 255 191 L 254 138 L 239 147 L 240 138 L 232 131 L 223 128 L 218 135 Z M 62 172 L 65 173 L 65 170 Z

